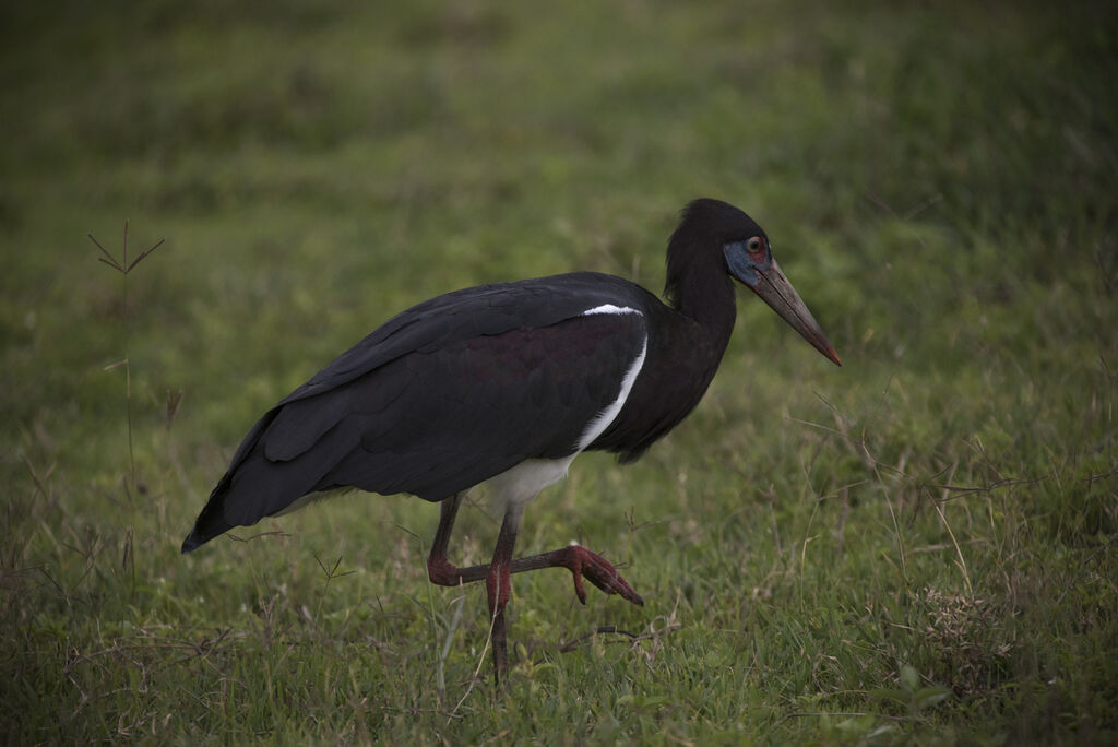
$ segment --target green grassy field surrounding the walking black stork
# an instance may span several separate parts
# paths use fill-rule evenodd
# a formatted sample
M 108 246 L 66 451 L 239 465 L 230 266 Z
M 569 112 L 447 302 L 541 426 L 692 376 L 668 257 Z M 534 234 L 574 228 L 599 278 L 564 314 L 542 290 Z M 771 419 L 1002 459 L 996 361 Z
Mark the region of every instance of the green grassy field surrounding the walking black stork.
M 1118 740 L 1118 13 L 392 4 L 0 10 L 0 740 Z M 578 539 L 644 608 L 515 577 L 494 691 L 436 507 L 179 555 L 255 418 L 389 315 L 659 290 L 699 196 L 844 367 L 743 293 L 694 415 L 529 508 L 522 551 Z M 86 237 L 121 259 L 125 219 L 130 262 L 165 238 L 126 284 Z

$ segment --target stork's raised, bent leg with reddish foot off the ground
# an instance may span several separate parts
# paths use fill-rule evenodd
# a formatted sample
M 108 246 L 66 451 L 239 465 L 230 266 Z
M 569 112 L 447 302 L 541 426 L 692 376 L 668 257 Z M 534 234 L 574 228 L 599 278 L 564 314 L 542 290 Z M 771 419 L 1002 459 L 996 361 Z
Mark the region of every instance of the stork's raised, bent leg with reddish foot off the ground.
M 427 557 L 427 575 L 433 584 L 439 586 L 457 586 L 480 581 L 486 578 L 490 571 L 490 564 L 458 568 L 446 558 L 451 530 L 454 528 L 454 520 L 458 514 L 461 503 L 462 494 L 457 494 L 446 499 L 440 504 L 435 542 Z M 586 604 L 586 590 L 582 588 L 582 578 L 586 578 L 606 594 L 619 594 L 627 602 L 644 605 L 641 595 L 633 590 L 633 587 L 622 578 L 622 575 L 608 560 L 590 552 L 580 545 L 569 545 L 550 552 L 515 558 L 509 564 L 509 573 L 520 574 L 525 570 L 560 567 L 570 570 L 575 579 L 575 594 L 582 604 Z

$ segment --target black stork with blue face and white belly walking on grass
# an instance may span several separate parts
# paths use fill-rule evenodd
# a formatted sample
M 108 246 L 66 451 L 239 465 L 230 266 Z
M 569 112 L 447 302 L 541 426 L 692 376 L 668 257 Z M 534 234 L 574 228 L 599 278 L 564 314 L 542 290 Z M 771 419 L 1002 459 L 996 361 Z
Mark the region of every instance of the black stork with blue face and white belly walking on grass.
M 182 543 L 352 486 L 440 503 L 427 559 L 444 586 L 485 579 L 494 666 L 506 666 L 509 575 L 561 566 L 641 597 L 605 558 L 571 545 L 513 558 L 524 505 L 587 450 L 634 462 L 707 390 L 733 329 L 737 280 L 816 350 L 839 354 L 738 208 L 691 202 L 667 245 L 667 304 L 628 281 L 571 273 L 447 293 L 394 316 L 265 413 Z M 489 565 L 446 557 L 463 495 L 489 483 L 504 520 Z

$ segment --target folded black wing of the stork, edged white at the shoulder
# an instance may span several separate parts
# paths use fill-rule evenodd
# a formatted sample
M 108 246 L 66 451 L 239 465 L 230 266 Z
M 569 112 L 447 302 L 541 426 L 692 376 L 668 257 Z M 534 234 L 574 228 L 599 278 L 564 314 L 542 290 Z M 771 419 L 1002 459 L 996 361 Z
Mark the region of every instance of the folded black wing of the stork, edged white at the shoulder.
M 253 427 L 183 551 L 354 486 L 439 501 L 578 451 L 645 346 L 646 292 L 591 273 L 458 291 L 378 328 Z

